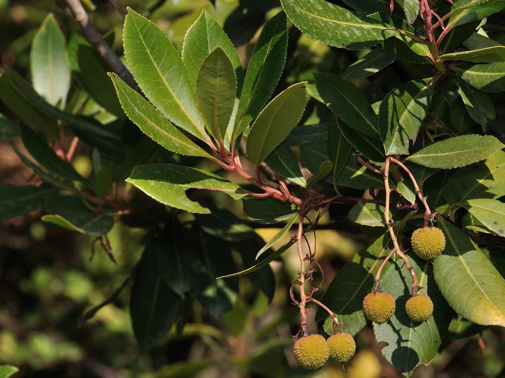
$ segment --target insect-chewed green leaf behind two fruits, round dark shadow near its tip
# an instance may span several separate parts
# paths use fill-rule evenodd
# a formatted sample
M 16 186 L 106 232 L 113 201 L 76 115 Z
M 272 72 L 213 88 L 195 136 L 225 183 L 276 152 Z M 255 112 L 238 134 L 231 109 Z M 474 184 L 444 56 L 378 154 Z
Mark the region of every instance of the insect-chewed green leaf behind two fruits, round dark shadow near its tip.
M 428 294 L 433 302 L 433 316 L 422 323 L 414 322 L 407 316 L 405 303 L 411 297 L 409 288 L 412 277 L 409 270 L 402 267 L 403 260 L 397 259 L 381 277 L 381 289 L 396 298 L 395 313 L 387 323 L 374 324 L 377 342 L 388 343 L 382 349 L 382 354 L 407 377 L 412 375 L 416 366 L 430 363 L 437 355 L 452 318 L 452 311 L 433 278 L 432 263 L 417 256 L 411 256 L 409 260 L 419 285 L 423 286 L 421 293 Z

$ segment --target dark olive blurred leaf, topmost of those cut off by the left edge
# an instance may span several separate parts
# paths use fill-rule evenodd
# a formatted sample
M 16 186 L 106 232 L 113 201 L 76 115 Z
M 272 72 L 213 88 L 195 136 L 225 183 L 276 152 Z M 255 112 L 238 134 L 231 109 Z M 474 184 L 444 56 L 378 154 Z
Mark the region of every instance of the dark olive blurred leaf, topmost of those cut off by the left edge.
M 32 125 L 47 136 L 60 139 L 58 123 L 42 114 L 35 105 L 27 101 L 13 87 L 9 80 L 9 71 L 0 77 L 0 99 L 24 123 Z

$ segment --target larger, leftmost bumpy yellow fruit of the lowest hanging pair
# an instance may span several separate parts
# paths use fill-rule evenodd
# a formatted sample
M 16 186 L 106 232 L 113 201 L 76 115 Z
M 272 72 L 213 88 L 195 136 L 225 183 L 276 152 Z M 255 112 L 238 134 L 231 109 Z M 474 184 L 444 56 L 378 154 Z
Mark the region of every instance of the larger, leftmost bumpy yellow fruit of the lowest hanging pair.
M 296 362 L 306 369 L 320 369 L 324 366 L 330 352 L 326 339 L 318 334 L 302 337 L 293 345 Z

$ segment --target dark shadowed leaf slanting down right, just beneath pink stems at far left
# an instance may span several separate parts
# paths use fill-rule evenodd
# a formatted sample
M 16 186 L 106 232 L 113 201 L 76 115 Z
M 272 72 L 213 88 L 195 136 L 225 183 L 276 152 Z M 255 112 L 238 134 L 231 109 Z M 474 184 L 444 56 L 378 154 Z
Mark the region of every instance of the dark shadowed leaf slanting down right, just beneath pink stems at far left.
M 47 145 L 47 141 L 27 126 L 20 125 L 20 129 L 23 145 L 42 167 L 69 181 L 79 181 L 85 185 L 89 185 L 89 182 L 77 173 L 72 165 L 56 155 L 55 151 Z

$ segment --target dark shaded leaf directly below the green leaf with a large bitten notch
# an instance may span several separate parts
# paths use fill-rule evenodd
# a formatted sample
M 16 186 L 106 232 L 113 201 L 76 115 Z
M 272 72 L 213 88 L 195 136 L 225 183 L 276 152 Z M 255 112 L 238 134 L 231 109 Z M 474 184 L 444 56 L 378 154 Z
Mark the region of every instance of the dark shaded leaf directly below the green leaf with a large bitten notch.
M 203 203 L 210 214 L 195 214 L 196 222 L 209 235 L 226 241 L 248 240 L 256 235 L 254 229 L 237 218 L 229 210 L 221 209 L 208 201 Z

